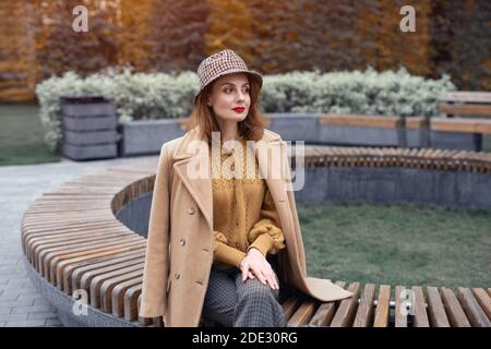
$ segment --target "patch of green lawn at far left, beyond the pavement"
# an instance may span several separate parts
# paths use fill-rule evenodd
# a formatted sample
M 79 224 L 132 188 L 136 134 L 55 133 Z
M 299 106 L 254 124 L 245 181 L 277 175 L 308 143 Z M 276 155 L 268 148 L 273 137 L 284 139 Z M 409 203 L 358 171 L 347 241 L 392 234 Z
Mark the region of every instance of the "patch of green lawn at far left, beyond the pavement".
M 0 106 L 0 166 L 57 163 L 43 141 L 38 106 Z

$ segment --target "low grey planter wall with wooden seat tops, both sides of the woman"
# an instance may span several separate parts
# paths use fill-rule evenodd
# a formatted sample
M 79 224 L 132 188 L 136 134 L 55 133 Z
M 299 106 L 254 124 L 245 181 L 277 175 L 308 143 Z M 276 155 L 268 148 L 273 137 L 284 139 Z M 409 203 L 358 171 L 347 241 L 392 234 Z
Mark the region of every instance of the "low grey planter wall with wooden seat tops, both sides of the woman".
M 348 146 L 436 147 L 480 151 L 482 133 L 491 133 L 488 121 L 469 120 L 472 127 L 458 125 L 430 129 L 423 117 L 266 113 L 266 128 L 279 133 L 284 141 L 304 141 L 307 144 Z M 159 154 L 161 145 L 182 136 L 188 118 L 133 121 L 120 125 L 122 141 L 119 154 L 136 156 Z M 445 119 L 448 120 L 448 119 Z M 456 119 L 450 119 L 455 122 Z M 438 121 L 441 122 L 441 121 Z M 447 121 L 445 121 L 447 122 Z M 93 135 L 94 139 L 97 135 Z

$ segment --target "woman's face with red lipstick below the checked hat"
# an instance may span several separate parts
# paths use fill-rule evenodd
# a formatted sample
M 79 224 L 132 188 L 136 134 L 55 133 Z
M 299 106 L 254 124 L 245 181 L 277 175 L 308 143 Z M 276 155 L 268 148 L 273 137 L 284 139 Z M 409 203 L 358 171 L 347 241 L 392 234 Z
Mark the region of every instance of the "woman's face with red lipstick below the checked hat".
M 223 121 L 242 121 L 251 105 L 248 76 L 233 73 L 218 77 L 208 100 L 217 118 Z

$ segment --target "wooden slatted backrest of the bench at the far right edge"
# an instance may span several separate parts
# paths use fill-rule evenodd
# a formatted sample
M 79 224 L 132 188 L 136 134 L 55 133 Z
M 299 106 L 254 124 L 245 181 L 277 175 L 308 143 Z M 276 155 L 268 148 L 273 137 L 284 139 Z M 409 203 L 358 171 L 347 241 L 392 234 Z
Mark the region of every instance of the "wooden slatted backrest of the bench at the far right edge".
M 456 91 L 439 97 L 439 109 L 446 117 L 491 117 L 491 93 Z

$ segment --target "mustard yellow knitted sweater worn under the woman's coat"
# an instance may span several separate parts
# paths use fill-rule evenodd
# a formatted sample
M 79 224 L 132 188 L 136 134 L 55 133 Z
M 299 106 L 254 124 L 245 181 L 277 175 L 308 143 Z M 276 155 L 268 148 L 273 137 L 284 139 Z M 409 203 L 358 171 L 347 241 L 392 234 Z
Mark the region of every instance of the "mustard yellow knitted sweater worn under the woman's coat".
M 239 267 L 247 252 L 255 248 L 264 256 L 285 248 L 285 237 L 273 197 L 264 179 L 259 176 L 253 149 L 249 157 L 246 141 L 243 152 L 221 148 L 212 158 L 214 266 Z M 249 159 L 249 160 L 248 160 Z M 235 163 L 237 160 L 237 163 Z M 235 178 L 235 166 L 242 164 L 242 178 Z M 238 172 L 240 168 L 238 168 Z M 249 174 L 249 176 L 248 176 Z

